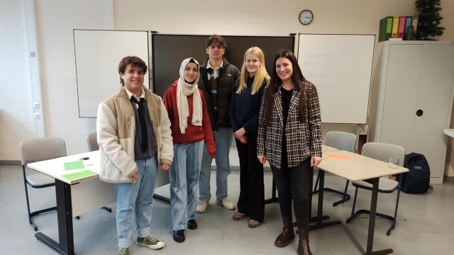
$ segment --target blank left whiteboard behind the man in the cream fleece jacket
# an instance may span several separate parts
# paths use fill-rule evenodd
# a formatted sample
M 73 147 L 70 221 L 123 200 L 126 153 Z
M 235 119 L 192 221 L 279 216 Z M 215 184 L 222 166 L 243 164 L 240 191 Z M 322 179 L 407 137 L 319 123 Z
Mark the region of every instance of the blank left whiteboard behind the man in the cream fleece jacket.
M 98 105 L 120 91 L 118 64 L 137 56 L 148 64 L 148 32 L 74 29 L 79 117 L 95 117 Z M 150 88 L 149 72 L 143 85 Z

